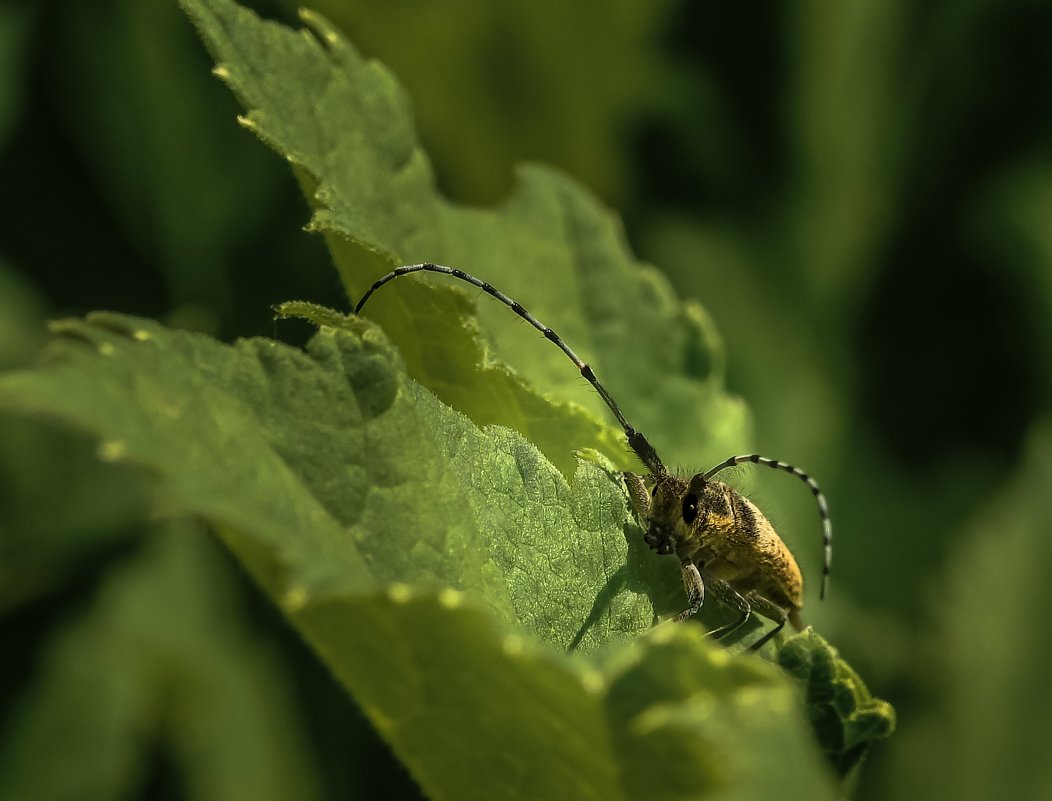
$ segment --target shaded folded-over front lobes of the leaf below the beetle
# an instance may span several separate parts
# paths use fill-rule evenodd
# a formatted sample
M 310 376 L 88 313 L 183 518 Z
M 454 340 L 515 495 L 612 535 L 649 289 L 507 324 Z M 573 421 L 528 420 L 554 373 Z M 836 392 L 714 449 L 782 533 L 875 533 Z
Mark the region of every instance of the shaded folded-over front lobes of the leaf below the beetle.
M 299 619 L 433 798 L 833 798 L 793 687 L 694 627 L 594 668 L 443 597 L 338 598 Z

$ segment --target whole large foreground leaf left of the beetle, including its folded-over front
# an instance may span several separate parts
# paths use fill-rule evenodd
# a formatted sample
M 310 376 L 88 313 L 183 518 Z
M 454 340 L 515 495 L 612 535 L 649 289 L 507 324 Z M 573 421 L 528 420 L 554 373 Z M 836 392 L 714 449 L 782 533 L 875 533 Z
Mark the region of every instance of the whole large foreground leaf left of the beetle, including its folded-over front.
M 519 435 L 477 428 L 375 325 L 324 328 L 305 354 L 118 315 L 55 328 L 45 366 L 0 378 L 0 406 L 98 436 L 155 477 L 161 509 L 217 526 L 432 797 L 765 798 L 772 765 L 831 797 L 773 668 L 691 626 L 603 663 L 563 655 L 648 629 L 674 563 L 600 466 L 567 484 Z

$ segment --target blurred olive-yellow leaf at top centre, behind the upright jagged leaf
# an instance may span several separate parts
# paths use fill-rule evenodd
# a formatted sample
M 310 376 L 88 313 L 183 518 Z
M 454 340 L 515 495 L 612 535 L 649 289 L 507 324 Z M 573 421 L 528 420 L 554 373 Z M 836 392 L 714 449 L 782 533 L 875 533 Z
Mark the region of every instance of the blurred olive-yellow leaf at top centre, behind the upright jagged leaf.
M 608 201 L 625 199 L 630 123 L 672 94 L 660 47 L 672 6 L 311 5 L 399 76 L 443 186 L 473 201 L 506 194 L 512 165 L 524 159 L 567 169 Z

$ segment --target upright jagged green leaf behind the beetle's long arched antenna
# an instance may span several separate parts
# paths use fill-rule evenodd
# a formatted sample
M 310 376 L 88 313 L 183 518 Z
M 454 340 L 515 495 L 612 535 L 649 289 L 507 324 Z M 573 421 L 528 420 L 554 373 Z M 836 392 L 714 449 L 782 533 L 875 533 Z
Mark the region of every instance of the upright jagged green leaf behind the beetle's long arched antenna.
M 243 123 L 300 175 L 316 206 L 310 227 L 327 236 L 350 297 L 399 264 L 447 261 L 559 331 L 670 463 L 710 466 L 744 446 L 745 413 L 723 391 L 722 347 L 707 317 L 635 263 L 618 221 L 580 187 L 530 167 L 497 211 L 450 204 L 393 78 L 324 20 L 304 12 L 308 29 L 294 32 L 226 0 L 184 6 L 247 109 Z M 483 343 L 465 319 L 463 289 L 446 279 L 425 292 L 423 282 L 400 282 L 367 308 L 410 375 L 477 423 L 515 428 L 564 475 L 574 447 L 635 464 L 608 410 L 550 343 L 488 298 Z

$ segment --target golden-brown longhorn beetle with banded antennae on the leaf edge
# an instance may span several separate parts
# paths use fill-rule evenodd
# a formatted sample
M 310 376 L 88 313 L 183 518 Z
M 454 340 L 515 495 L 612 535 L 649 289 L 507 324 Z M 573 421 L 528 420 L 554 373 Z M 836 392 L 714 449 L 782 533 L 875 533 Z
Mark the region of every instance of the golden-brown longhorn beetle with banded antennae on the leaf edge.
M 820 597 L 825 598 L 833 555 L 833 530 L 826 497 L 814 479 L 798 467 L 758 454 L 732 456 L 688 480 L 671 475 L 647 438 L 628 422 L 616 401 L 595 378 L 591 367 L 555 332 L 500 289 L 462 269 L 441 264 L 398 267 L 369 287 L 355 307 L 355 314 L 360 314 L 366 301 L 384 284 L 396 278 L 422 272 L 441 273 L 466 281 L 511 308 L 566 354 L 613 413 L 625 432 L 629 447 L 649 474 L 646 479 L 633 473 L 624 474 L 631 504 L 636 515 L 646 522 L 644 540 L 659 554 L 675 554 L 683 568 L 683 586 L 688 604 L 672 620 L 686 620 L 697 612 L 705 601 L 705 590 L 708 588 L 717 600 L 739 613 L 739 618 L 733 622 L 709 632 L 715 639 L 741 627 L 753 612 L 774 621 L 775 625 L 752 644 L 752 650 L 756 650 L 781 632 L 786 621 L 792 623 L 794 628 L 802 628 L 800 612 L 804 604 L 804 580 L 796 560 L 763 513 L 747 498 L 743 498 L 722 481 L 713 480 L 713 477 L 728 467 L 751 462 L 784 470 L 810 487 L 822 518 L 825 559 Z M 647 482 L 651 484 L 649 492 Z

